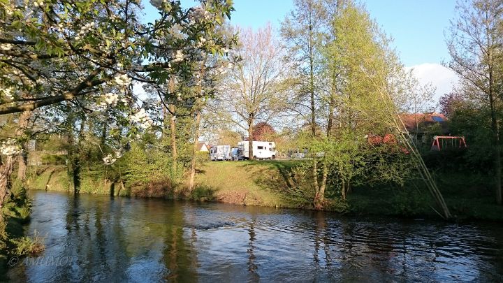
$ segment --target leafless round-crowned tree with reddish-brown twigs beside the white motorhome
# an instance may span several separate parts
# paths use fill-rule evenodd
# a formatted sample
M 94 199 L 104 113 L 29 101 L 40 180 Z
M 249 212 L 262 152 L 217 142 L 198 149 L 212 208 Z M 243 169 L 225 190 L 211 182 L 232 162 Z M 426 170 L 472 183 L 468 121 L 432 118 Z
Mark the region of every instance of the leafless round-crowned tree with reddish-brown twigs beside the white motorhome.
M 235 52 L 241 61 L 219 85 L 213 108 L 228 111 L 231 122 L 247 131 L 251 139 L 257 121 L 268 122 L 284 110 L 289 68 L 282 61 L 282 47 L 270 24 L 256 32 L 241 31 Z M 253 145 L 249 143 L 249 159 L 253 158 Z

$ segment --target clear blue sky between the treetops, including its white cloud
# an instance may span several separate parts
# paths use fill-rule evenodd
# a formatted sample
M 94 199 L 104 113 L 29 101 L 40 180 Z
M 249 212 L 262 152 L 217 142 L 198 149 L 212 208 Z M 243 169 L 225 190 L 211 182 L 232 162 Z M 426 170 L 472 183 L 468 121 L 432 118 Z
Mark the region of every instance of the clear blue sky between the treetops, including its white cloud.
M 187 8 L 197 3 L 182 0 Z M 360 0 L 360 3 L 393 38 L 393 46 L 404 66 L 414 68 L 421 82 L 435 85 L 437 96 L 449 92 L 456 77 L 440 64 L 449 61 L 444 31 L 455 15 L 455 0 Z M 148 6 L 145 3 L 147 14 L 156 13 Z M 278 28 L 294 7 L 291 0 L 234 0 L 234 8 L 233 24 L 256 29 L 267 22 Z M 145 18 L 149 17 L 152 15 Z

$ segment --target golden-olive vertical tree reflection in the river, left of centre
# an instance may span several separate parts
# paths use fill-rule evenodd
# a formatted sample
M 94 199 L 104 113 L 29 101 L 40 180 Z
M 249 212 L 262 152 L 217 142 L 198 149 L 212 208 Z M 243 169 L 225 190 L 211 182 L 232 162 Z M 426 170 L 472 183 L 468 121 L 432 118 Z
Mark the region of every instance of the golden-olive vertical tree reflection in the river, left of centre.
M 193 246 L 184 239 L 184 209 L 179 203 L 164 207 L 168 219 L 163 223 L 163 261 L 169 270 L 170 282 L 197 281 L 197 256 Z M 195 231 L 192 231 L 195 233 Z

